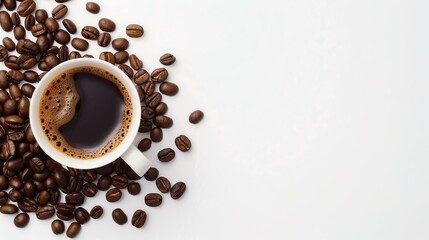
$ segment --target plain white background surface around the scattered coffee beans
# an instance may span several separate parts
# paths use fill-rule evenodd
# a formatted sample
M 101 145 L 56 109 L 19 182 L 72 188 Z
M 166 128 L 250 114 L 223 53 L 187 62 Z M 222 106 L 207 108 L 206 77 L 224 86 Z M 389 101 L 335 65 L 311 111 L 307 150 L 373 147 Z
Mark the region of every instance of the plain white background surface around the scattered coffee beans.
M 144 179 L 116 204 L 99 192 L 85 207 L 101 203 L 105 215 L 79 239 L 429 238 L 427 1 L 98 1 L 98 15 L 85 2 L 68 3 L 79 29 L 101 17 L 117 23 L 114 37 L 144 26 L 129 52 L 146 69 L 176 55 L 180 93 L 165 97 L 174 127 L 148 156 L 188 189 L 159 208 L 145 206 L 156 189 Z M 196 126 L 195 109 L 206 114 Z M 192 150 L 160 163 L 182 133 Z M 144 209 L 146 225 L 116 225 L 115 207 L 129 218 Z M 60 238 L 52 219 L 31 218 L 20 230 L 2 215 L 0 230 Z

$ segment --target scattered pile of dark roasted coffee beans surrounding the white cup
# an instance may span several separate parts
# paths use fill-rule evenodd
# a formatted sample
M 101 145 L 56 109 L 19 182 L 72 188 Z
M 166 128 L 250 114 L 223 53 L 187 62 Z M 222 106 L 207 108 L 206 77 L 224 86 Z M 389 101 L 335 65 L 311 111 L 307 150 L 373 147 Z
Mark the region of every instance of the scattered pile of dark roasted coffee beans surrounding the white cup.
M 0 27 L 13 32 L 15 39 L 4 37 L 0 44 L 0 62 L 6 69 L 0 70 L 0 213 L 14 214 L 14 224 L 25 227 L 30 221 L 28 213 L 34 212 L 40 220 L 54 218 L 51 229 L 54 234 L 73 238 L 79 234 L 82 225 L 90 219 L 103 215 L 100 205 L 89 212 L 81 207 L 85 198 L 94 197 L 99 191 L 106 191 L 108 202 L 116 202 L 127 189 L 131 195 L 141 192 L 140 177 L 122 160 L 106 166 L 80 170 L 65 168 L 43 152 L 36 142 L 29 125 L 30 98 L 34 92 L 33 83 L 38 82 L 47 71 L 61 62 L 75 58 L 93 58 L 85 54 L 89 41 L 96 41 L 100 48 L 112 44 L 116 52 L 100 49 L 99 59 L 117 65 L 134 81 L 142 103 L 139 132 L 147 133 L 138 149 L 148 151 L 152 143 L 161 142 L 163 129 L 173 126 L 173 119 L 165 115 L 168 105 L 163 95 L 174 96 L 179 87 L 168 80 L 164 67 L 151 72 L 143 68 L 143 61 L 127 52 L 130 38 L 140 38 L 144 29 L 139 24 L 129 24 L 123 29 L 124 37 L 112 39 L 110 32 L 117 31 L 111 19 L 100 18 L 97 26 L 78 29 L 73 20 L 66 18 L 68 0 L 56 0 L 52 10 L 39 9 L 34 0 L 0 0 Z M 100 5 L 88 2 L 86 10 L 91 14 L 100 12 Z M 80 10 L 80 9 L 78 9 Z M 80 36 L 74 37 L 79 34 Z M 16 51 L 17 55 L 14 55 Z M 176 57 L 166 53 L 159 62 L 169 66 Z M 158 90 L 159 89 L 159 92 Z M 196 110 L 189 115 L 189 122 L 200 122 L 204 114 Z M 175 146 L 182 152 L 191 149 L 191 140 L 180 135 Z M 172 148 L 159 151 L 158 159 L 169 162 L 176 153 Z M 144 203 L 149 207 L 162 204 L 163 195 L 169 193 L 172 199 L 179 199 L 186 190 L 186 184 L 171 184 L 158 169 L 151 168 L 144 175 L 148 181 L 155 181 L 159 192 L 148 193 Z M 64 196 L 65 201 L 61 201 Z M 142 200 L 143 204 L 143 200 Z M 117 208 L 112 212 L 113 220 L 122 225 L 128 222 L 127 215 Z M 131 218 L 136 228 L 144 226 L 147 214 L 137 209 Z M 64 221 L 71 221 L 68 228 Z

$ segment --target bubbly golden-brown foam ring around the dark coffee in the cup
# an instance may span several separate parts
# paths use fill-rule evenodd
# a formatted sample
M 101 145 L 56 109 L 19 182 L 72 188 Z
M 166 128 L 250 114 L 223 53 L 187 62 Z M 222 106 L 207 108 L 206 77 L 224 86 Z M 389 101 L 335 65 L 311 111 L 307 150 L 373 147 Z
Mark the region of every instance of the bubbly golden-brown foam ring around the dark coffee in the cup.
M 121 126 L 104 145 L 91 150 L 70 146 L 61 134 L 61 126 L 73 119 L 80 99 L 73 78 L 78 72 L 88 72 L 111 81 L 124 99 Z M 43 91 L 40 106 L 40 121 L 49 142 L 64 154 L 80 159 L 97 158 L 115 149 L 127 135 L 133 117 L 131 97 L 124 84 L 110 72 L 96 67 L 74 68 L 55 77 Z

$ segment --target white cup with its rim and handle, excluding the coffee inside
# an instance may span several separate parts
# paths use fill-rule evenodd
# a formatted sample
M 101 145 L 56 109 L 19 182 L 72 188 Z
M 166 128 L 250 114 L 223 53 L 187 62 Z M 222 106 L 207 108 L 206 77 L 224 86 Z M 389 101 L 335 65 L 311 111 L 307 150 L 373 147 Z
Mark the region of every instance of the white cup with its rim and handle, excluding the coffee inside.
M 112 151 L 94 159 L 82 160 L 74 158 L 55 148 L 43 132 L 42 124 L 40 122 L 39 108 L 41 107 L 40 100 L 44 92 L 43 90 L 45 90 L 47 85 L 51 81 L 54 81 L 61 73 L 78 67 L 96 67 L 112 73 L 124 84 L 132 101 L 133 115 L 128 133 Z M 43 151 L 55 161 L 72 168 L 93 169 L 109 164 L 121 157 L 139 176 L 143 176 L 150 168 L 151 162 L 137 149 L 137 147 L 132 144 L 140 126 L 140 117 L 140 98 L 134 83 L 115 65 L 93 58 L 69 60 L 51 69 L 46 73 L 42 80 L 40 80 L 33 93 L 30 104 L 30 124 L 33 135 Z

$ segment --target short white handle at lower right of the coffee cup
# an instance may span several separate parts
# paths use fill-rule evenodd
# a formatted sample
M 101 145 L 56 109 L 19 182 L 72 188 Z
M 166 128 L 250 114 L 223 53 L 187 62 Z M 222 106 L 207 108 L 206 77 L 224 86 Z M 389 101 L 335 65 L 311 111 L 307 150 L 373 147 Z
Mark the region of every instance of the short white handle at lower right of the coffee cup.
M 124 154 L 122 154 L 121 158 L 137 173 L 140 177 L 142 177 L 147 170 L 152 166 L 152 163 L 147 159 L 140 150 L 131 145 Z

